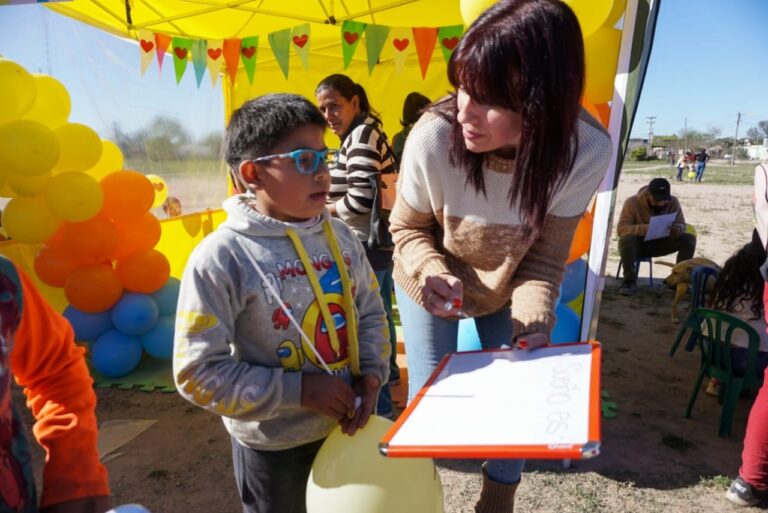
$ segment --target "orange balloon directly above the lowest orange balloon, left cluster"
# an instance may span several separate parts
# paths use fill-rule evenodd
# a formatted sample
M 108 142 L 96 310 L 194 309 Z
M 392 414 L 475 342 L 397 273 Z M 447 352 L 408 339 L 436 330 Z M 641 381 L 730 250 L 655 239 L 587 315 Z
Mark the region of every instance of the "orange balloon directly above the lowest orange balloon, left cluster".
M 64 223 L 62 242 L 74 258 L 83 264 L 103 264 L 115 258 L 117 229 L 102 215 L 82 223 Z

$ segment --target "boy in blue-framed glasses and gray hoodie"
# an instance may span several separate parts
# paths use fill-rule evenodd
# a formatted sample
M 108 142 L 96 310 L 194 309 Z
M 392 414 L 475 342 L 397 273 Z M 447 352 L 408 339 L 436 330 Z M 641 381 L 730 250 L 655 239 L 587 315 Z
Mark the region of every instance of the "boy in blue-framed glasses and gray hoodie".
M 312 462 L 352 435 L 388 378 L 389 335 L 362 244 L 325 209 L 326 122 L 301 96 L 232 114 L 224 147 L 240 194 L 190 256 L 173 370 L 180 393 L 221 415 L 245 512 L 305 511 Z

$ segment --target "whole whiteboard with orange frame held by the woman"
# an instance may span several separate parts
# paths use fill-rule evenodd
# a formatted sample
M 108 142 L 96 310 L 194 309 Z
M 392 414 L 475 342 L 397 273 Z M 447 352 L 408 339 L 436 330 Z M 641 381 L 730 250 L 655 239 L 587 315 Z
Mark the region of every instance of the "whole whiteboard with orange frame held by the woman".
M 389 457 L 596 456 L 600 344 L 447 355 L 379 448 Z

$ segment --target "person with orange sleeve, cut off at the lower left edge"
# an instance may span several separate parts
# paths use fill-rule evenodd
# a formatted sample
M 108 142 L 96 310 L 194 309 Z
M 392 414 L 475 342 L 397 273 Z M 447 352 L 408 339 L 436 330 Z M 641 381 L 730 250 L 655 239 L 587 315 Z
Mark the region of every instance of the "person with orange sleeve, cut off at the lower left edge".
M 0 257 L 0 512 L 103 513 L 110 509 L 99 463 L 93 380 L 69 323 L 30 279 Z M 11 377 L 35 417 L 45 449 L 38 505 L 29 446 L 11 401 Z

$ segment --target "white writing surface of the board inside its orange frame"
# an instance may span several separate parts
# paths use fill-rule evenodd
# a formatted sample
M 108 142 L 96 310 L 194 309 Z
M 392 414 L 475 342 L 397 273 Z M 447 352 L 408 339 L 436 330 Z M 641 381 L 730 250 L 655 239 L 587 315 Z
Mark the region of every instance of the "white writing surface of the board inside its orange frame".
M 389 445 L 585 444 L 591 358 L 588 344 L 457 353 Z

